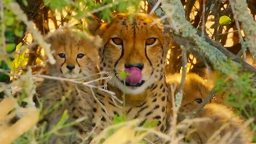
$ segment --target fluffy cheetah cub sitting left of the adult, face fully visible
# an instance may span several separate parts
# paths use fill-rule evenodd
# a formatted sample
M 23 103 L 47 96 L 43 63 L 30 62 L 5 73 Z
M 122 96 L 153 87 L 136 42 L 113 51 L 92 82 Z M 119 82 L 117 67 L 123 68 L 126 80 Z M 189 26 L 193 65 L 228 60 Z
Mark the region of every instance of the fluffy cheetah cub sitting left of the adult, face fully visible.
M 98 48 L 101 46 L 99 36 L 84 36 L 82 33 L 66 30 L 53 34 L 46 42 L 51 44 L 56 60 L 55 65 L 46 66 L 50 76 L 84 81 L 96 78 L 90 76 L 98 73 Z M 90 78 L 85 79 L 88 76 Z M 93 95 L 89 87 L 68 81 L 44 79 L 38 86 L 37 93 L 39 100 L 43 101 L 43 113 L 52 109 L 56 103 L 62 102 L 59 107 L 44 116 L 48 131 L 59 122 L 65 110 L 68 110 L 67 122 L 86 117 L 84 121 L 58 131 L 59 133 L 73 131 L 74 134 L 68 137 L 52 135 L 48 143 L 80 143 L 87 137 L 86 133 L 91 129 L 93 118 Z

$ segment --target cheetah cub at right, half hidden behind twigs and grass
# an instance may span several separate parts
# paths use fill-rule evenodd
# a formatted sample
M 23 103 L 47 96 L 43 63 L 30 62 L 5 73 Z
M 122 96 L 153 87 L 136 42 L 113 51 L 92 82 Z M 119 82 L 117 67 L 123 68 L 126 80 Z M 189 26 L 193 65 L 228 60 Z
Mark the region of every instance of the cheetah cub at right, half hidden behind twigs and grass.
M 166 79 L 169 87 L 172 84 L 177 84 L 179 89 L 180 74 L 167 76 Z M 191 114 L 208 93 L 209 90 L 204 79 L 195 74 L 187 74 L 178 122 Z M 171 107 L 170 104 L 169 109 Z M 214 102 L 208 103 L 195 115 L 195 118 L 209 118 L 209 121 L 193 122 L 189 127 L 190 130 L 182 131 L 185 133 L 185 139 L 188 143 L 238 144 L 251 142 L 251 134 L 247 127 L 243 126 L 243 120 L 225 105 Z

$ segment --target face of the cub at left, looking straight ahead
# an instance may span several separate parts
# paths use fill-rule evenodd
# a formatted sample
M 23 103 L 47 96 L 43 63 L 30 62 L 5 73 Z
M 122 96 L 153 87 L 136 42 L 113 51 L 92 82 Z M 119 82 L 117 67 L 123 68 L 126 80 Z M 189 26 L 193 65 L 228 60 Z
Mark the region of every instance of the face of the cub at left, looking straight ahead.
M 101 44 L 98 36 L 90 39 L 75 32 L 63 32 L 49 41 L 56 60 L 55 65 L 50 67 L 50 73 L 54 71 L 52 73 L 65 78 L 82 78 L 97 73 L 98 47 Z

